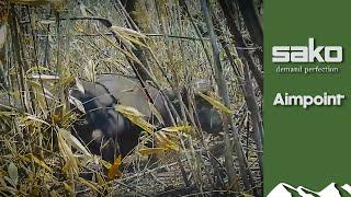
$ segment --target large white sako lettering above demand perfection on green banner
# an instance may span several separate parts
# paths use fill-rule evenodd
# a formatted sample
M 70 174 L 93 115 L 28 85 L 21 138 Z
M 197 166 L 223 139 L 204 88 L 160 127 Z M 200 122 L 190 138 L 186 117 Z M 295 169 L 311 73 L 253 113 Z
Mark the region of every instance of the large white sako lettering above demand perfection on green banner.
M 273 62 L 341 62 L 342 47 L 315 46 L 315 38 L 308 38 L 308 46 L 273 46 L 272 55 Z

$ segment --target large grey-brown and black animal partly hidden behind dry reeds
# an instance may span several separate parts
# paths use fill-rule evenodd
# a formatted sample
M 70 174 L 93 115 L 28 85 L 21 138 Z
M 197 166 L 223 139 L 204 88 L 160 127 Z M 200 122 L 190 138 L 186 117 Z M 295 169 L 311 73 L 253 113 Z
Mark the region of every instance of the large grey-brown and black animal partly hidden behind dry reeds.
M 83 91 L 77 85 L 70 89 L 70 96 L 79 100 L 84 108 L 81 119 L 73 124 L 73 134 L 80 138 L 93 154 L 113 162 L 115 157 L 126 157 L 139 141 L 141 128 L 134 125 L 114 106 L 132 106 L 145 115 L 146 119 L 159 126 L 171 126 L 171 115 L 160 91 L 147 84 L 143 88 L 135 78 L 118 74 L 100 74 L 95 82 L 82 81 Z M 180 104 L 173 93 L 167 93 L 170 103 L 180 114 Z M 182 91 L 186 101 L 186 91 Z M 163 125 L 152 116 L 149 103 L 152 102 L 163 119 Z M 185 105 L 188 104 L 184 102 Z M 219 113 L 204 99 L 195 96 L 195 123 L 202 130 L 217 134 L 222 130 Z

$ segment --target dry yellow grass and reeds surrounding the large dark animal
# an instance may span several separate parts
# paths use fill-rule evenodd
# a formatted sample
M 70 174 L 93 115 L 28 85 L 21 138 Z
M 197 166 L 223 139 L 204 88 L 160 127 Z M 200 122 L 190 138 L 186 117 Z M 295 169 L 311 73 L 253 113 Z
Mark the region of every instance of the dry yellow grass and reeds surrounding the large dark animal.
M 134 76 L 128 59 L 137 60 L 132 53 L 136 46 L 145 49 L 148 65 L 161 88 L 181 89 L 191 86 L 197 79 L 208 79 L 216 90 L 212 72 L 213 57 L 204 53 L 211 51 L 211 45 L 206 37 L 200 38 L 205 44 L 201 45 L 193 24 L 177 2 L 138 3 L 143 11 L 135 15 L 140 19 L 138 23 L 143 24 L 143 33 L 131 31 L 126 15 L 114 9 L 111 1 L 82 1 L 80 5 L 76 1 L 60 0 L 11 2 L 16 3 L 9 8 L 10 14 L 0 18 L 7 27 L 4 44 L 0 45 L 3 54 L 0 71 L 5 77 L 7 91 L 1 92 L 0 104 L 5 103 L 10 107 L 0 106 L 1 195 L 154 196 L 165 190 L 169 190 L 168 195 L 213 195 L 225 194 L 226 189 L 234 188 L 227 185 L 223 167 L 222 137 L 197 132 L 199 128 L 192 128 L 190 135 L 174 135 L 179 150 L 159 153 L 156 166 L 135 151 L 122 161 L 123 173 L 113 181 L 101 170 L 111 164 L 91 155 L 68 132 L 78 115 L 67 107 L 67 88 L 76 78 L 93 81 L 99 73 Z M 200 4 L 193 2 L 189 5 L 195 24 L 205 28 Z M 78 18 L 86 19 L 70 20 Z M 99 19 L 109 20 L 113 27 L 106 27 Z M 120 42 L 112 36 L 113 32 Z M 227 39 L 228 36 L 225 30 L 223 37 Z M 0 36 L 0 43 L 1 39 Z M 143 39 L 145 42 L 140 42 Z M 234 47 L 231 45 L 230 49 L 236 55 Z M 257 170 L 254 143 L 246 137 L 248 117 L 244 93 L 228 57 L 223 53 L 220 58 L 229 86 L 230 109 L 240 129 L 242 143 L 245 147 L 248 144 L 249 165 Z M 242 73 L 242 68 L 238 70 Z M 53 76 L 58 76 L 59 80 L 49 79 Z M 258 97 L 261 101 L 259 94 Z M 215 100 L 220 102 L 219 99 Z M 208 181 L 214 170 L 207 149 L 215 154 L 223 174 L 223 187 L 216 187 Z M 186 181 L 181 175 L 182 167 Z M 79 177 L 83 172 L 95 173 L 91 181 L 87 181 Z M 258 185 L 261 187 L 259 181 Z M 246 193 L 241 186 L 235 189 L 238 194 Z

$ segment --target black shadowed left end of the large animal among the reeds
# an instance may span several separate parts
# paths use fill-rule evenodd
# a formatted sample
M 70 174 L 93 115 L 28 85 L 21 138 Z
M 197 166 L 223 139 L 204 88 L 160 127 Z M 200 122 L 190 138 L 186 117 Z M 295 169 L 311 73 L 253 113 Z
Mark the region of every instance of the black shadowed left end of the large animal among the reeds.
M 113 162 L 134 149 L 138 142 L 139 132 L 123 115 L 114 109 L 117 104 L 115 97 L 99 83 L 82 82 L 84 90 L 77 86 L 70 90 L 70 99 L 78 100 L 75 111 L 80 118 L 73 124 L 73 135 L 82 140 L 93 154 Z M 83 106 L 83 111 L 78 105 Z

